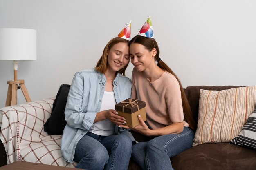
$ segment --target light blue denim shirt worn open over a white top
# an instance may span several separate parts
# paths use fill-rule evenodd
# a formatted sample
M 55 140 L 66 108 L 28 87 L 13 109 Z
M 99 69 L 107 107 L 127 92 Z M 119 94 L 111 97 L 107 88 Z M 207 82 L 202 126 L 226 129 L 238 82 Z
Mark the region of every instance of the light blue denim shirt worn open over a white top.
M 95 69 L 76 72 L 67 97 L 65 119 L 67 125 L 63 131 L 61 152 L 64 159 L 73 162 L 77 142 L 94 128 L 94 119 L 101 108 L 105 91 L 105 75 Z M 131 95 L 131 80 L 117 74 L 113 81 L 114 95 L 119 103 Z M 123 133 L 131 137 L 131 133 L 115 126 L 115 133 Z

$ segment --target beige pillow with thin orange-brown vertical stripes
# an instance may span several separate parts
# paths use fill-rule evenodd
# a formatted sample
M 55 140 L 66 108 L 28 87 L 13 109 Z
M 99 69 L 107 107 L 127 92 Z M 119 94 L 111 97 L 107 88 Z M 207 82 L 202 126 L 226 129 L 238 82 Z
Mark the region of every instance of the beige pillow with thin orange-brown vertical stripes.
M 230 142 L 252 114 L 256 103 L 256 86 L 222 91 L 200 90 L 198 128 L 193 146 Z

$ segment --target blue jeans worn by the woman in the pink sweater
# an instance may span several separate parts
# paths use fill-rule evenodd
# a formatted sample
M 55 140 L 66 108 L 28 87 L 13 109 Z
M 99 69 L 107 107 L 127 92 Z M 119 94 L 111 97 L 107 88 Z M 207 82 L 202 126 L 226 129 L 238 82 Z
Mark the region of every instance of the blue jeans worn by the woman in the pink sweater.
M 132 158 L 143 170 L 173 170 L 170 158 L 192 147 L 194 132 L 184 127 L 182 133 L 155 137 L 133 145 Z

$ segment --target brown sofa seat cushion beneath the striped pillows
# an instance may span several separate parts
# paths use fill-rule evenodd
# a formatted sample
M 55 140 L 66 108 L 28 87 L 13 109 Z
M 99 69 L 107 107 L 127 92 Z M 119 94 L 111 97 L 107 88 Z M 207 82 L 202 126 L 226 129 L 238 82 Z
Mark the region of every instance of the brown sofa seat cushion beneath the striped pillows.
M 175 170 L 255 170 L 255 150 L 232 143 L 202 144 L 171 158 Z

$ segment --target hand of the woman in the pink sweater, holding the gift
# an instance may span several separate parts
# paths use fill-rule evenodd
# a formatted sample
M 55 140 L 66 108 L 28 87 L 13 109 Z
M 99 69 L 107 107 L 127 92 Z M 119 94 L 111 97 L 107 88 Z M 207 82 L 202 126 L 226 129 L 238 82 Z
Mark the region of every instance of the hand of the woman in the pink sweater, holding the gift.
M 139 132 L 139 133 L 141 133 L 143 135 L 146 135 L 146 136 L 153 135 L 152 134 L 153 131 L 148 128 L 148 126 L 145 124 L 145 122 L 143 121 L 143 119 L 141 118 L 140 115 L 138 115 L 138 119 L 139 119 L 140 124 L 135 126 L 134 128 L 130 128 L 130 127 L 124 126 L 124 125 L 119 125 L 119 126 L 122 127 L 122 128 L 126 128 L 126 129 L 132 129 L 133 131 Z

